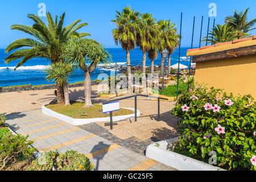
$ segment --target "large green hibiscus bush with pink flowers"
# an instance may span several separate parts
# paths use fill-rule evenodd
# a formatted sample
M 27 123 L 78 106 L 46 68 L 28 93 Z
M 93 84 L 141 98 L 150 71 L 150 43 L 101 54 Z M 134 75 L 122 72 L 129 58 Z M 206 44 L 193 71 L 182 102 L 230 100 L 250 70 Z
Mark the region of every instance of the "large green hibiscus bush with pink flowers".
M 255 106 L 250 95 L 234 97 L 202 85 L 183 92 L 171 111 L 180 118 L 174 151 L 207 163 L 215 151 L 218 167 L 256 170 Z

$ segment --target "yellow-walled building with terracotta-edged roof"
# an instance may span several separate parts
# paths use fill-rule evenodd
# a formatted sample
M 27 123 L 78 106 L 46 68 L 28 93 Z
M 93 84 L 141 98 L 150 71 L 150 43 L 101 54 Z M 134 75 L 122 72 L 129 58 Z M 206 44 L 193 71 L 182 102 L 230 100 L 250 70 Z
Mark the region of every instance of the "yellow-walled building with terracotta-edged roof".
M 188 49 L 196 63 L 195 81 L 256 99 L 256 36 Z

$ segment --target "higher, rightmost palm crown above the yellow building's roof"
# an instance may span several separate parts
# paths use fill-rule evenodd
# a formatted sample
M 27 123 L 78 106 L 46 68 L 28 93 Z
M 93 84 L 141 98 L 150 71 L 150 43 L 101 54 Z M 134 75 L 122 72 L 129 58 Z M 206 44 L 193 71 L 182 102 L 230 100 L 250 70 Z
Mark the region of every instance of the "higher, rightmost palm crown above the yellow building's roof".
M 247 32 L 254 30 L 255 28 L 251 28 L 256 23 L 256 18 L 247 22 L 247 13 L 250 8 L 247 8 L 245 11 L 240 11 L 237 13 L 234 10 L 234 15 L 228 16 L 225 19 L 225 22 L 230 25 L 235 31 L 237 31 L 237 39 L 241 39 L 241 34 L 246 34 Z

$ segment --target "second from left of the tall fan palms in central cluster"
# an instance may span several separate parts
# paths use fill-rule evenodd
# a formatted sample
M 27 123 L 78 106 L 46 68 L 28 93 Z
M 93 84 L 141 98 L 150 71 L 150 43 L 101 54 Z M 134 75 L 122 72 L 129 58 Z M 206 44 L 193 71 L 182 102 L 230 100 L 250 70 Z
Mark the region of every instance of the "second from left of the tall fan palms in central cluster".
M 147 52 L 154 48 L 155 39 L 159 36 L 158 24 L 155 23 L 155 19 L 152 18 L 152 14 L 144 13 L 139 14 L 141 16 L 138 21 L 137 30 L 137 46 L 141 48 L 143 52 L 142 56 L 142 72 L 146 73 L 146 56 Z

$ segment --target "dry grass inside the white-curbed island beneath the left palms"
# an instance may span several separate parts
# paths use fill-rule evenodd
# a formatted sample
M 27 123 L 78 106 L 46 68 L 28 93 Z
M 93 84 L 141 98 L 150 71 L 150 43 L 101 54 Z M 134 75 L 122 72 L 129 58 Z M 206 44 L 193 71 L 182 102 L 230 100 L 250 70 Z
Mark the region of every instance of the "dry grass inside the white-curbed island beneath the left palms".
M 63 104 L 55 104 L 46 106 L 57 113 L 67 115 L 72 118 L 103 118 L 109 117 L 109 114 L 102 113 L 102 105 L 94 104 L 94 107 L 82 107 L 84 102 L 70 101 L 71 105 L 65 106 Z M 134 111 L 122 109 L 113 111 L 113 116 L 134 114 Z

